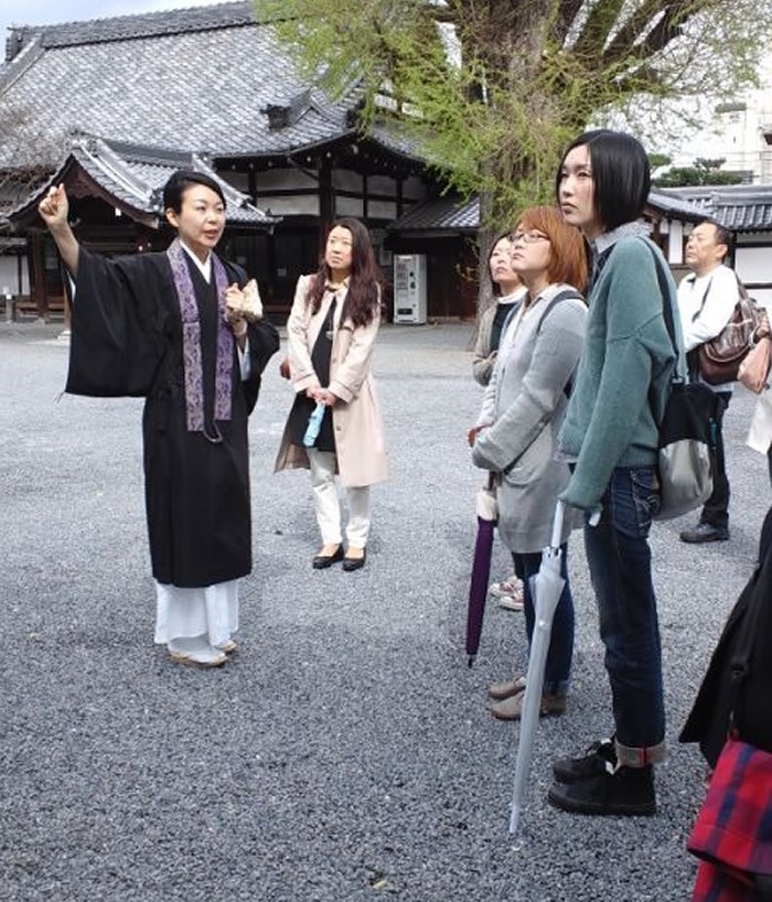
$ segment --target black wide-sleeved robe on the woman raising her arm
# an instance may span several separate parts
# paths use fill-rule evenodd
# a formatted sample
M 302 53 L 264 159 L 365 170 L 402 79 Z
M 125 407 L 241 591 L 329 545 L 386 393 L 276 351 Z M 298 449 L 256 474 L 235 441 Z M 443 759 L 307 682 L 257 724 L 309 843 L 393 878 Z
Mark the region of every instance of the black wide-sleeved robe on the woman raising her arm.
M 165 254 L 108 260 L 81 250 L 66 390 L 92 397 L 147 398 L 142 418 L 144 496 L 153 577 L 200 588 L 251 570 L 247 418 L 260 374 L 279 348 L 267 321 L 249 324 L 250 375 L 242 382 L 233 341 L 230 420 L 213 421 L 217 305 L 185 257 L 201 325 L 204 432 L 187 430 L 182 318 Z M 245 273 L 223 261 L 228 283 Z M 222 441 L 208 437 L 219 434 Z

